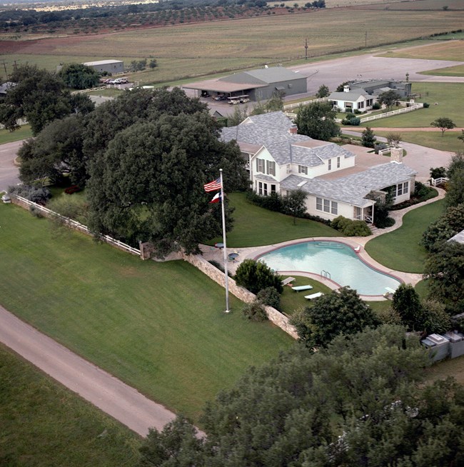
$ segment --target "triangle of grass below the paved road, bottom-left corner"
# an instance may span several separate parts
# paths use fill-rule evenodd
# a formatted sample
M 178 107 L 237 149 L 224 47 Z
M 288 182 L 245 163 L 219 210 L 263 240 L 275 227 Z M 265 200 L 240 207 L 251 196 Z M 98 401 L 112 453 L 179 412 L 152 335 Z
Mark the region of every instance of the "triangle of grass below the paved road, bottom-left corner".
M 141 438 L 2 345 L 0 381 L 1 466 L 138 465 Z

